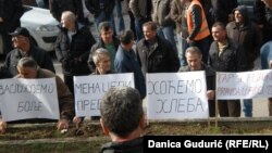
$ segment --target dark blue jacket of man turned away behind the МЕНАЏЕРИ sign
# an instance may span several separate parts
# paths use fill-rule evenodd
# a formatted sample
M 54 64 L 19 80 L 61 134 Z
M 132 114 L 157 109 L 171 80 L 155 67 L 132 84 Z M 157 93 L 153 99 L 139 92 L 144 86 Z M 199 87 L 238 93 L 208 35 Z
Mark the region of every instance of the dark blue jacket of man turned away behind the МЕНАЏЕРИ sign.
M 128 52 L 119 47 L 114 67 L 116 73 L 134 73 L 135 88 L 139 91 L 141 99 L 144 99 L 146 97 L 146 82 L 135 52 L 133 50 Z

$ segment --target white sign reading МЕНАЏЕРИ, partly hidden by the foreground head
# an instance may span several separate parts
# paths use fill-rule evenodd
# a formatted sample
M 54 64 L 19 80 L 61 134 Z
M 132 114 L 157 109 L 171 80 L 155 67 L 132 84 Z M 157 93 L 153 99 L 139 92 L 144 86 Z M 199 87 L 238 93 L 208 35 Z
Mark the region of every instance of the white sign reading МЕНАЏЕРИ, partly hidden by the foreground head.
M 100 116 L 100 101 L 111 87 L 135 87 L 133 73 L 74 77 L 76 116 Z

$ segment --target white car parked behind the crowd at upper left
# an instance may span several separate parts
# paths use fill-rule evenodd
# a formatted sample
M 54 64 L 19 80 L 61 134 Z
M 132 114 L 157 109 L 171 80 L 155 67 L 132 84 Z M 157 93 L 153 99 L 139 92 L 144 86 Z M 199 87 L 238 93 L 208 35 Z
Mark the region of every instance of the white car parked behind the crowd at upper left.
M 53 51 L 60 23 L 54 20 L 49 10 L 24 5 L 24 14 L 20 21 L 21 26 L 28 29 L 34 43 L 46 51 Z M 0 37 L 0 54 L 3 54 L 2 51 Z

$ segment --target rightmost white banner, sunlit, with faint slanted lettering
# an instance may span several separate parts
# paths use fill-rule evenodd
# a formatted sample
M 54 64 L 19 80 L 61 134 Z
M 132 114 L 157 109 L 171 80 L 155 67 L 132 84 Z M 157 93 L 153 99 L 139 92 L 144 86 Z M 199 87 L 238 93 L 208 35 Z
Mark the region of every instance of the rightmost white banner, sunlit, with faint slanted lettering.
M 217 73 L 217 99 L 235 100 L 271 98 L 272 69 Z

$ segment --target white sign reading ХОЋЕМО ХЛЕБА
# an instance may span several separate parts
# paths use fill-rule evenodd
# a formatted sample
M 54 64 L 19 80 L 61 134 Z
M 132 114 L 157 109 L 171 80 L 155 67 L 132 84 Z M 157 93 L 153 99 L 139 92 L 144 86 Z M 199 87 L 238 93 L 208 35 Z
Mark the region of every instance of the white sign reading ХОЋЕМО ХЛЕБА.
M 147 119 L 208 118 L 205 72 L 147 74 Z

